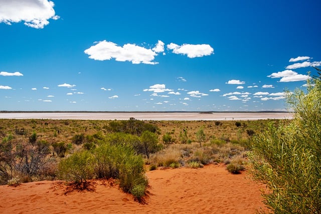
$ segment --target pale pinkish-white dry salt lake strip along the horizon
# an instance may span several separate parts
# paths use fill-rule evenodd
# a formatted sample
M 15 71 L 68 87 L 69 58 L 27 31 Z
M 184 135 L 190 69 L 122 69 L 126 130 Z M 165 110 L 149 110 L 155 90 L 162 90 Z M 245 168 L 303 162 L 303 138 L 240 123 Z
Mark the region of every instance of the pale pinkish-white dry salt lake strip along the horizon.
M 200 114 L 198 112 L 47 112 L 47 113 L 0 113 L 3 119 L 82 119 L 82 120 L 128 120 L 133 117 L 138 120 L 259 120 L 259 119 L 291 119 L 293 113 L 248 113 L 248 112 L 219 112 Z

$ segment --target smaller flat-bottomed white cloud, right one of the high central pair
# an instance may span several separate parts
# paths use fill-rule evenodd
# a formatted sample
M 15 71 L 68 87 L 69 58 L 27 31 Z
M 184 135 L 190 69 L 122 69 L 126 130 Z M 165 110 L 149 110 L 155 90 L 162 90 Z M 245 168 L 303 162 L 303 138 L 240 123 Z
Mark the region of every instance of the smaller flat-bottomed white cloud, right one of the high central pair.
M 174 43 L 171 43 L 167 45 L 167 48 L 170 50 L 173 50 L 174 54 L 183 54 L 187 55 L 189 58 L 195 58 L 195 57 L 204 57 L 209 56 L 211 54 L 214 54 L 214 49 L 210 45 L 190 45 L 190 44 L 184 44 L 184 45 L 177 45 Z

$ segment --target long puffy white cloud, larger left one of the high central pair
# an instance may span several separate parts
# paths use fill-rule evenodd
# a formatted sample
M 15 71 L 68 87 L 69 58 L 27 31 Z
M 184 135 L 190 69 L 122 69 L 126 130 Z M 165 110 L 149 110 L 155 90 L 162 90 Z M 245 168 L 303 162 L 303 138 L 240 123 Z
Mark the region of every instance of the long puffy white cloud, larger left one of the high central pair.
M 158 64 L 157 62 L 152 62 L 155 56 L 157 56 L 154 51 L 135 44 L 126 44 L 120 47 L 115 43 L 104 40 L 96 42 L 94 46 L 91 46 L 84 52 L 89 55 L 90 59 L 100 61 L 114 58 L 116 61 L 129 61 L 132 64 Z

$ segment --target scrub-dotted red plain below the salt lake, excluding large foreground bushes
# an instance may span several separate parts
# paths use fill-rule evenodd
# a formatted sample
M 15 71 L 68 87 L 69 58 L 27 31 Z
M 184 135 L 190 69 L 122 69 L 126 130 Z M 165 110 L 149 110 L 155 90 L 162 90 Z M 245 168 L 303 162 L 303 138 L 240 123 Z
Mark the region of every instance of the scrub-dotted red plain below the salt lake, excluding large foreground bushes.
M 247 172 L 247 142 L 268 124 L 288 121 L 0 119 L 1 209 L 4 213 L 266 211 L 260 195 L 266 187 Z M 144 129 L 156 137 L 149 147 L 143 145 Z M 137 198 L 130 189 L 124 190 L 115 176 L 79 175 L 90 184 L 85 188 L 70 187 L 77 179 L 62 179 L 62 160 L 101 147 L 101 141 L 142 144 L 132 146 L 143 160 L 148 182 L 144 196 Z M 15 156 L 14 166 L 8 156 Z M 233 167 L 227 170 L 228 166 Z

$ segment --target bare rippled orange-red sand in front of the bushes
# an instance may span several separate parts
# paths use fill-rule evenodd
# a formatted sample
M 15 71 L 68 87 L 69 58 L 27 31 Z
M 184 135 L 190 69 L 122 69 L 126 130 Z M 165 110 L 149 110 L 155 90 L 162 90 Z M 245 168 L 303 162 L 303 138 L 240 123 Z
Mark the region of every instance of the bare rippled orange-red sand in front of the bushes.
M 117 185 L 97 181 L 93 192 L 64 194 L 58 181 L 0 186 L 1 213 L 255 213 L 264 207 L 260 189 L 246 172 L 230 174 L 223 165 L 148 171 L 146 204 Z M 265 209 L 266 210 L 266 209 Z

